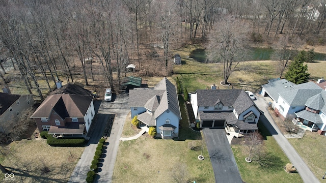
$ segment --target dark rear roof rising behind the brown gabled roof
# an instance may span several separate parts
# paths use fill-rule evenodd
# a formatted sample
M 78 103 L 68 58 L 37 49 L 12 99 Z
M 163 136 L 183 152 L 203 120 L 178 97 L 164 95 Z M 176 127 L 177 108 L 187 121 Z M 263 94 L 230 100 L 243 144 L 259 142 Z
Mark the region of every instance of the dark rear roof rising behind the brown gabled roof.
M 55 89 L 52 92 L 50 92 L 49 95 L 55 95 L 55 94 L 73 94 L 73 95 L 85 95 L 90 96 L 91 91 L 88 89 L 85 89 L 84 87 L 78 85 L 77 83 L 68 83 L 61 88 Z

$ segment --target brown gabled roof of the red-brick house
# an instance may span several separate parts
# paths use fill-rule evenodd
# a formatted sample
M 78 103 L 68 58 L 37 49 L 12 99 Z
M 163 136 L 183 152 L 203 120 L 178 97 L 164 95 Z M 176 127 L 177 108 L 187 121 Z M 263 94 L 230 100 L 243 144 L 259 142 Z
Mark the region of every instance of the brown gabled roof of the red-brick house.
M 52 110 L 56 111 L 63 119 L 65 117 L 84 117 L 92 100 L 93 97 L 83 95 L 50 95 L 36 109 L 31 118 L 47 118 Z

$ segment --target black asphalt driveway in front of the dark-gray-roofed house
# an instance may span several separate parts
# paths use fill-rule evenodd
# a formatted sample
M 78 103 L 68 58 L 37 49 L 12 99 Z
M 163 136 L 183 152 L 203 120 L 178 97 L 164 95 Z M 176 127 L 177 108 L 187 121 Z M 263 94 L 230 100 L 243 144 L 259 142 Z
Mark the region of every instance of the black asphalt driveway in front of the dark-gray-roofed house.
M 204 129 L 202 132 L 213 167 L 215 182 L 242 183 L 225 130 Z

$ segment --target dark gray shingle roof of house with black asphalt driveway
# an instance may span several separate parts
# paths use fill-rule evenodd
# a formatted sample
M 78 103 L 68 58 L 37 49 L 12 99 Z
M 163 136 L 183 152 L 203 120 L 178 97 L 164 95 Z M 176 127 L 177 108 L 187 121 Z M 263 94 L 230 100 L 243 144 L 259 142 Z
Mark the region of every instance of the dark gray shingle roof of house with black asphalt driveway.
M 254 102 L 242 89 L 197 89 L 198 106 L 214 106 L 221 102 L 224 106 L 233 106 L 240 114 L 254 105 Z

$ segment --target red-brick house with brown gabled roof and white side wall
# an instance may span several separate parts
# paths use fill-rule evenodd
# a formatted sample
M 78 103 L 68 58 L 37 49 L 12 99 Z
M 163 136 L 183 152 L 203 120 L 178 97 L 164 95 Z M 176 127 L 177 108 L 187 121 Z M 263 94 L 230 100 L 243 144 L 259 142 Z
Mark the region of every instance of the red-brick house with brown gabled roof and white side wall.
M 48 96 L 32 114 L 40 132 L 53 137 L 86 137 L 95 116 L 93 96 Z

